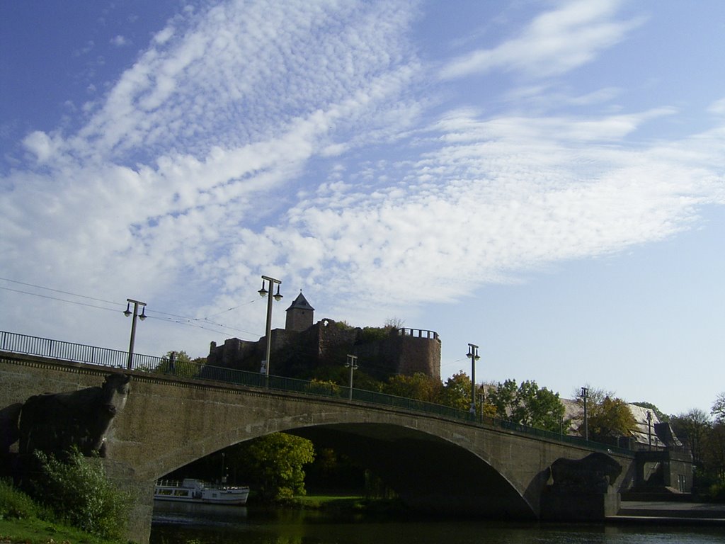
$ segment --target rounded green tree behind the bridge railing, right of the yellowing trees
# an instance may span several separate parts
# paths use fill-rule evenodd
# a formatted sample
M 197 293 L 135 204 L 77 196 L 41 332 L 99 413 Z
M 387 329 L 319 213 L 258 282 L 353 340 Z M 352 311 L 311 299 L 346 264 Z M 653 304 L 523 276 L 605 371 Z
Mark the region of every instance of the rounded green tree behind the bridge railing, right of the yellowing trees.
M 499 419 L 552 432 L 563 424 L 565 408 L 559 394 L 546 387 L 539 389 L 537 382 L 527 380 L 517 387 L 515 380 L 507 379 L 489 390 L 486 400 Z

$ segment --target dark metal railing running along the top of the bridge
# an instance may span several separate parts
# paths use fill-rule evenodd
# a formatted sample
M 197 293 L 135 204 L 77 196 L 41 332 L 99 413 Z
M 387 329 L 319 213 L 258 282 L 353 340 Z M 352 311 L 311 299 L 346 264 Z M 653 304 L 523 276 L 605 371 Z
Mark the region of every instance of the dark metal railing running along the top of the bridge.
M 128 352 L 111 350 L 105 347 L 94 347 L 72 342 L 62 342 L 39 337 L 30 337 L 25 334 L 0 331 L 0 350 L 24 355 L 37 355 L 75 363 L 88 363 L 113 368 L 126 368 Z M 225 384 L 258 387 L 266 390 L 282 392 L 295 392 L 318 397 L 339 398 L 349 400 L 349 387 L 332 382 L 319 382 L 317 380 L 302 380 L 287 378 L 285 376 L 266 376 L 258 372 L 248 372 L 235 368 L 209 366 L 205 364 L 186 361 L 171 361 L 153 355 L 133 355 L 132 369 L 134 371 L 148 372 L 149 374 L 175 376 L 180 379 L 198 379 L 207 382 L 223 382 Z M 629 448 L 619 448 L 615 445 L 600 444 L 587 441 L 583 437 L 570 436 L 560 432 L 545 431 L 535 427 L 511 423 L 502 419 L 490 418 L 468 411 L 457 410 L 450 406 L 428 403 L 407 397 L 397 397 L 376 391 L 359 390 L 353 388 L 352 400 L 376 406 L 399 408 L 406 411 L 426 413 L 429 416 L 440 416 L 455 419 L 471 424 L 493 426 L 505 431 L 539 437 L 546 440 L 564 442 L 584 448 L 602 450 L 610 453 L 634 455 Z

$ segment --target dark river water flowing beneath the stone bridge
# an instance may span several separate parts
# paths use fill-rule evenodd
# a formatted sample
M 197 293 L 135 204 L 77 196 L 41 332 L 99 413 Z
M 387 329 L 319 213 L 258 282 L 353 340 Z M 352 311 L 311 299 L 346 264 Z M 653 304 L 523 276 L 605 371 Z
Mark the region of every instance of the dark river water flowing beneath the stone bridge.
M 711 544 L 723 527 L 652 524 L 377 521 L 316 511 L 162 503 L 151 544 Z

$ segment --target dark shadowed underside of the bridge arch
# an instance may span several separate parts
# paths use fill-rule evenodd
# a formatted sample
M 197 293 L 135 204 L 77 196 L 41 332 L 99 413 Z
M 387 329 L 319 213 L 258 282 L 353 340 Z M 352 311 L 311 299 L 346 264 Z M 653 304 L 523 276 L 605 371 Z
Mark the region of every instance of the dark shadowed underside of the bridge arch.
M 431 434 L 386 424 L 330 424 L 289 432 L 369 468 L 416 511 L 499 519 L 536 517 L 526 500 L 488 463 Z

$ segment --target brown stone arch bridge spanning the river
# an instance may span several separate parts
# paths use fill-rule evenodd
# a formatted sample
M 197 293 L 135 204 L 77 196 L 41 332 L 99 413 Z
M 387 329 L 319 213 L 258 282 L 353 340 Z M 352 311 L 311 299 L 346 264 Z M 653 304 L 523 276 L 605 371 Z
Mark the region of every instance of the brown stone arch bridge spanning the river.
M 109 374 L 99 366 L 0 355 L 0 415 L 31 395 L 96 386 Z M 109 475 L 136 496 L 129 536 L 138 542 L 148 540 L 156 479 L 229 445 L 278 431 L 346 453 L 413 508 L 520 519 L 539 518 L 553 461 L 594 451 L 591 444 L 560 442 L 551 435 L 347 399 L 126 374 L 132 376 L 130 393 L 107 434 L 105 463 Z M 5 432 L 5 442 L 12 440 L 8 436 Z M 623 466 L 613 485 L 629 487 L 634 454 L 610 455 Z

